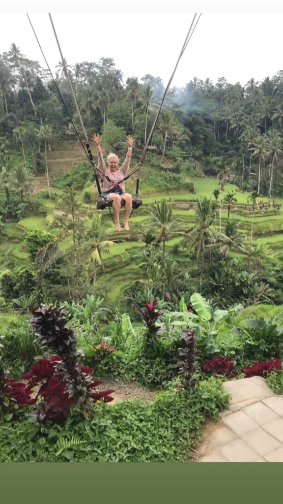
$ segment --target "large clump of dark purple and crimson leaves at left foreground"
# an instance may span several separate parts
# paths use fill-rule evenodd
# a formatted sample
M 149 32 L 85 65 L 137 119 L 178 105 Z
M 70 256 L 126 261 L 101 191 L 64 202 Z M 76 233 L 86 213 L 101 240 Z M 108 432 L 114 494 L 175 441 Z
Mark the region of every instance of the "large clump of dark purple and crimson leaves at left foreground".
M 39 421 L 46 418 L 64 421 L 71 404 L 82 409 L 89 400 L 94 404 L 100 399 L 111 401 L 113 398 L 109 394 L 113 390 L 95 391 L 101 382 L 93 380 L 92 368 L 79 364 L 78 357 L 82 351 L 75 348 L 77 340 L 73 329 L 65 327 L 68 319 L 64 316 L 63 307 L 42 305 L 32 311 L 29 322 L 42 348 L 58 356 L 38 359 L 39 364 L 33 364 L 31 371 L 22 376 L 22 379 L 27 380 L 25 390 L 19 386 L 17 395 L 17 387 L 12 383 L 11 395 L 16 399 L 21 391 L 22 401 L 25 397 L 29 401 L 33 395 L 34 403 L 38 397 L 42 397 L 43 401 L 36 404 L 34 412 Z

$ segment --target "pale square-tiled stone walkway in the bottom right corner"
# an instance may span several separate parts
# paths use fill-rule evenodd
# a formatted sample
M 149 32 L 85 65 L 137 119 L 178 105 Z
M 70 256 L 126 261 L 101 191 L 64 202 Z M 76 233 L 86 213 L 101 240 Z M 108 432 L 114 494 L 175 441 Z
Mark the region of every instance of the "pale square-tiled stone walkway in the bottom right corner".
M 260 376 L 224 383 L 229 409 L 204 429 L 195 462 L 283 462 L 283 396 Z

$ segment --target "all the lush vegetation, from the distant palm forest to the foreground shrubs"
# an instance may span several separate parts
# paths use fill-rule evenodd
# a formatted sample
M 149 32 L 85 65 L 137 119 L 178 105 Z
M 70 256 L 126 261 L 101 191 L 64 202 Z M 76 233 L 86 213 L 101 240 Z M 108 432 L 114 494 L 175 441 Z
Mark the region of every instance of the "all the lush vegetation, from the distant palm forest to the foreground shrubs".
M 106 57 L 69 71 L 88 135 L 121 158 L 133 135 L 134 166 L 161 79 L 123 84 Z M 192 460 L 223 381 L 283 391 L 282 71 L 170 90 L 122 233 L 56 93 L 1 54 L 1 461 Z M 116 403 L 120 383 L 153 395 Z

